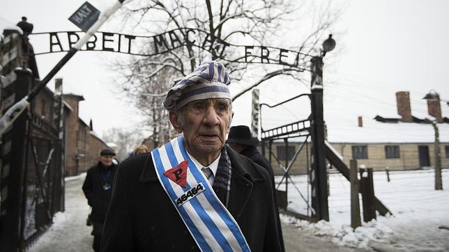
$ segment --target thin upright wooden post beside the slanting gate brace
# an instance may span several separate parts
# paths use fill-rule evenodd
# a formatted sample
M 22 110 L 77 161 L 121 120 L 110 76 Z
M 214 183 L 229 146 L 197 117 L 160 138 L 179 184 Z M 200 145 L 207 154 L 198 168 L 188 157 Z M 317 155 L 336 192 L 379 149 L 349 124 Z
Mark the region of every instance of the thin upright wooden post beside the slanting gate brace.
M 356 229 L 362 226 L 360 221 L 360 203 L 358 199 L 359 184 L 357 178 L 357 160 L 351 159 L 349 162 L 351 170 L 349 177 L 351 182 L 351 228 Z

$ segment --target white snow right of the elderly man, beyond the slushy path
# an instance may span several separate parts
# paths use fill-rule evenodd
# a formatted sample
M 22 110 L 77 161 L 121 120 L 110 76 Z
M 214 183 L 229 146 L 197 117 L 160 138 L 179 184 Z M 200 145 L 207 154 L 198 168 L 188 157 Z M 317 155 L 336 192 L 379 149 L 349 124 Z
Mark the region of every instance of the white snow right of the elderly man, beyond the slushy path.
M 289 206 L 291 212 L 307 214 L 306 176 L 292 176 L 289 181 Z M 352 230 L 350 209 L 350 184 L 340 174 L 329 175 L 330 222 L 309 223 L 282 215 L 284 222 L 314 235 L 331 239 L 336 244 L 358 249 L 377 251 L 449 251 L 449 170 L 443 169 L 443 191 L 434 190 L 434 171 L 374 172 L 376 197 L 393 212 L 393 216 L 377 216 L 377 220 L 363 223 Z M 277 178 L 277 182 L 280 178 Z M 300 190 L 303 198 L 298 193 Z M 279 189 L 284 189 L 282 184 Z M 360 196 L 360 214 L 363 209 Z M 310 215 L 310 212 L 309 212 Z

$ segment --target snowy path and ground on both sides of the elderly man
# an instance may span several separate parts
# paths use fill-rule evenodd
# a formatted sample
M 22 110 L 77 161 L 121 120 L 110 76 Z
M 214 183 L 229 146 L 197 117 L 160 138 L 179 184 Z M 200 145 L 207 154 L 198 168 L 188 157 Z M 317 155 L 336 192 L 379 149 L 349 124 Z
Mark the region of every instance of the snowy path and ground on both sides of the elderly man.
M 374 173 L 376 196 L 395 214 L 378 216 L 353 232 L 349 227 L 349 182 L 330 175 L 330 222 L 309 223 L 283 215 L 282 230 L 287 251 L 449 251 L 449 170 L 443 170 L 443 191 L 435 191 L 433 171 Z M 304 176 L 296 176 L 298 187 Z M 84 176 L 66 182 L 66 212 L 54 216 L 54 224 L 29 251 L 92 251 L 91 227 L 86 226 L 89 207 L 82 193 Z M 299 196 L 290 189 L 290 209 L 300 210 Z M 361 205 L 361 203 L 360 203 Z

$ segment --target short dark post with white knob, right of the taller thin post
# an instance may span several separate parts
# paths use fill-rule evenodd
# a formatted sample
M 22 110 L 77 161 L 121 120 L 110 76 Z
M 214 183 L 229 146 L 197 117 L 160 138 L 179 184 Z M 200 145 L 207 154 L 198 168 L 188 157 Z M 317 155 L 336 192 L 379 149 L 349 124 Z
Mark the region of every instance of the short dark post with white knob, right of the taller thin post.
M 363 221 L 369 222 L 376 219 L 372 168 L 360 168 L 360 191 L 362 192 Z

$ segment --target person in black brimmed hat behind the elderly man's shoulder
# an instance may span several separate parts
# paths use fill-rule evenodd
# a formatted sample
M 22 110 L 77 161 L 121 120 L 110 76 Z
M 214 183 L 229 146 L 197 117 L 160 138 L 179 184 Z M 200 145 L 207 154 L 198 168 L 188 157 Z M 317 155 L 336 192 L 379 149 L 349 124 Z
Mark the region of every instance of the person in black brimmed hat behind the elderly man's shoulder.
M 273 184 L 273 194 L 276 196 L 276 190 L 275 190 L 275 178 L 274 178 L 274 172 L 273 167 L 271 167 L 270 162 L 264 157 L 264 155 L 261 155 L 259 150 L 257 150 L 256 145 L 259 143 L 259 139 L 251 136 L 250 128 L 245 125 L 238 125 L 233 126 L 229 129 L 229 134 L 227 136 L 226 143 L 233 148 L 236 152 L 240 153 L 241 155 L 248 157 L 251 159 L 252 162 L 259 164 L 259 166 L 262 166 L 268 171 L 271 177 L 271 183 Z M 276 197 L 275 197 L 276 198 Z M 277 219 L 279 225 L 280 225 L 280 219 L 279 219 L 279 210 L 277 208 L 277 200 L 276 202 L 276 213 L 277 213 Z M 284 239 L 282 237 L 282 228 L 281 226 L 278 227 L 280 230 L 280 242 L 282 246 L 282 250 L 284 250 Z

